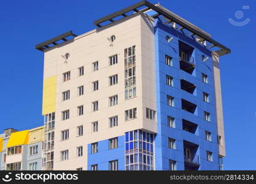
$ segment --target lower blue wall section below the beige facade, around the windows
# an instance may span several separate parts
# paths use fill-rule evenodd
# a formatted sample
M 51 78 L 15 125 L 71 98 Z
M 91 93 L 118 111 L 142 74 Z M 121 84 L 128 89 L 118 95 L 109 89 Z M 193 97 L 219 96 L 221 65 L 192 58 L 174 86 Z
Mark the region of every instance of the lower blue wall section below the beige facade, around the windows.
M 98 153 L 91 153 L 91 144 L 88 144 L 88 170 L 91 165 L 98 164 L 99 171 L 109 170 L 109 161 L 118 160 L 118 170 L 125 170 L 125 136 L 118 137 L 118 147 L 109 149 L 109 139 L 98 142 Z

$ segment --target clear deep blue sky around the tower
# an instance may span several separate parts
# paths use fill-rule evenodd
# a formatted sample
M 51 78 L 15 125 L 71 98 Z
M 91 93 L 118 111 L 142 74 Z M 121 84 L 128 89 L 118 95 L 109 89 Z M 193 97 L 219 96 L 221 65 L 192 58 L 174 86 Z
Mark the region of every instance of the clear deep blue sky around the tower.
M 34 49 L 36 44 L 69 30 L 82 34 L 95 29 L 94 20 L 136 2 L 1 1 L 0 131 L 10 127 L 33 128 L 43 123 L 43 53 Z M 224 164 L 227 170 L 255 170 L 256 2 L 160 0 L 160 4 L 231 48 L 231 54 L 220 59 L 227 148 Z M 244 13 L 243 17 L 238 10 Z M 250 21 L 235 26 L 228 18 Z

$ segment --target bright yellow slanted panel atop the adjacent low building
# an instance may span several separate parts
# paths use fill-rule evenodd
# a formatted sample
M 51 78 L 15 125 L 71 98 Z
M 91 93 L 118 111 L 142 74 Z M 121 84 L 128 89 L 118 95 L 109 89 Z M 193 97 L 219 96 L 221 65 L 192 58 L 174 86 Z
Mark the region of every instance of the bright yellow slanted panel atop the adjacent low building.
M 28 144 L 28 130 L 20 131 L 20 132 L 14 132 L 10 134 L 10 139 L 7 143 L 7 148 L 9 147 L 15 147 L 17 145 L 23 145 Z

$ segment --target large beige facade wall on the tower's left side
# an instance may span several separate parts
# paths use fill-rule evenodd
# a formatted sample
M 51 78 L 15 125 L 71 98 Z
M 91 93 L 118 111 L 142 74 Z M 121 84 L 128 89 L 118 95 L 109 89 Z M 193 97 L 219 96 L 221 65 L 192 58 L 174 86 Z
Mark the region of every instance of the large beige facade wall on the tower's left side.
M 142 17 L 143 16 L 143 17 Z M 123 136 L 133 129 L 146 128 L 157 132 L 157 123 L 145 119 L 145 107 L 156 110 L 152 22 L 139 13 L 111 26 L 78 36 L 67 44 L 45 52 L 44 79 L 57 76 L 55 115 L 54 169 L 87 169 L 87 144 Z M 115 35 L 113 47 L 107 38 Z M 124 49 L 136 45 L 137 97 L 125 100 Z M 69 53 L 68 63 L 61 55 Z M 118 63 L 109 66 L 109 56 L 118 55 Z M 99 62 L 99 70 L 92 71 L 92 63 Z M 78 68 L 84 75 L 78 77 Z M 63 82 L 63 73 L 71 71 L 71 80 Z M 109 86 L 109 76 L 118 74 L 118 84 Z M 99 90 L 92 91 L 92 82 L 99 81 Z M 82 96 L 77 87 L 84 86 Z M 62 101 L 62 92 L 70 90 L 70 99 Z M 109 97 L 118 94 L 118 105 L 109 107 Z M 142 98 L 143 96 L 143 98 Z M 92 112 L 91 102 L 98 101 L 99 110 Z M 143 105 L 142 105 L 143 104 Z M 83 105 L 83 115 L 77 107 Z M 137 108 L 137 118 L 125 121 L 125 110 Z M 63 110 L 70 111 L 69 120 L 61 120 Z M 118 115 L 118 126 L 109 128 L 109 117 Z M 91 123 L 98 121 L 98 132 L 91 131 Z M 77 137 L 77 126 L 83 125 L 83 136 Z M 69 129 L 69 140 L 61 141 L 61 131 Z M 77 158 L 77 147 L 83 146 L 83 156 Z M 69 159 L 61 161 L 60 152 L 69 150 Z M 124 153 L 125 154 L 125 153 Z

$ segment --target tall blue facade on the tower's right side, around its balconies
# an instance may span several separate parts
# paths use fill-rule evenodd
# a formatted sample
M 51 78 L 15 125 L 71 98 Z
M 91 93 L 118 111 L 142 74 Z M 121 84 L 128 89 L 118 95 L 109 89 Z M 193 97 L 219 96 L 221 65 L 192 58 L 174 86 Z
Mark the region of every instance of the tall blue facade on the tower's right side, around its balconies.
M 166 36 L 173 37 L 173 40 L 167 42 Z M 192 74 L 180 69 L 179 41 L 193 47 L 195 69 Z M 173 58 L 173 66 L 165 64 L 165 55 Z M 209 58 L 207 62 L 202 61 L 202 55 Z M 160 18 L 155 23 L 155 69 L 158 122 L 155 169 L 169 170 L 169 159 L 172 159 L 176 161 L 177 170 L 184 170 L 185 141 L 198 146 L 194 151 L 200 158 L 198 170 L 219 170 L 211 51 L 198 44 L 192 36 L 188 36 L 188 33 L 164 25 Z M 202 73 L 208 75 L 208 84 L 202 82 Z M 173 77 L 173 86 L 166 85 L 166 75 Z M 191 94 L 182 90 L 180 79 L 193 83 L 196 86 L 195 92 Z M 209 94 L 209 103 L 203 101 L 203 92 Z M 174 98 L 174 107 L 167 105 L 167 95 Z M 182 99 L 196 104 L 194 113 L 182 110 Z M 204 120 L 204 111 L 211 114 L 211 122 Z M 167 116 L 175 118 L 175 128 L 167 126 Z M 195 134 L 182 129 L 182 118 L 198 126 Z M 211 132 L 211 142 L 206 140 L 205 131 Z M 175 149 L 168 147 L 168 137 L 176 140 Z M 206 151 L 212 152 L 212 161 L 207 160 Z

